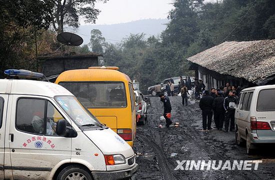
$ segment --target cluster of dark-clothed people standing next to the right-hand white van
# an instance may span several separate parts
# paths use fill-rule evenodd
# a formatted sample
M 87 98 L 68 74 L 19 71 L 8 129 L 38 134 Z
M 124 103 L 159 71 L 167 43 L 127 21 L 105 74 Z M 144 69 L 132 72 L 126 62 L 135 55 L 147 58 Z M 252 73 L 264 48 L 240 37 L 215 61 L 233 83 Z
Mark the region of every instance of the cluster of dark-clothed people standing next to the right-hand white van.
M 226 83 L 225 87 L 220 87 L 219 89 L 211 88 L 209 92 L 203 90 L 202 88 L 205 88 L 205 86 L 199 84 L 201 83 L 197 84 L 199 86 L 197 91 L 199 93 L 200 91 L 203 92 L 203 96 L 199 101 L 199 108 L 202 110 L 203 129 L 201 131 L 211 130 L 212 116 L 214 116 L 214 124 L 217 130 L 223 130 L 223 132 L 228 132 L 228 130 L 235 131 L 234 114 L 240 88 L 235 85 L 230 86 L 229 83 Z

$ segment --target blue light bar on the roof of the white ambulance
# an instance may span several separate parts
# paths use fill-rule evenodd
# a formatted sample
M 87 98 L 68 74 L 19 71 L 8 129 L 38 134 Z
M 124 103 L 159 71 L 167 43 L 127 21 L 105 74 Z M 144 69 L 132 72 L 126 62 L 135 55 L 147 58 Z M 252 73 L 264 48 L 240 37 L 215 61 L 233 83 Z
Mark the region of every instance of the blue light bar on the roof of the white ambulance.
M 21 78 L 30 78 L 30 79 L 39 79 L 43 77 L 43 74 L 38 72 L 32 72 L 24 69 L 7 69 L 4 71 L 4 74 L 10 77 L 21 77 Z

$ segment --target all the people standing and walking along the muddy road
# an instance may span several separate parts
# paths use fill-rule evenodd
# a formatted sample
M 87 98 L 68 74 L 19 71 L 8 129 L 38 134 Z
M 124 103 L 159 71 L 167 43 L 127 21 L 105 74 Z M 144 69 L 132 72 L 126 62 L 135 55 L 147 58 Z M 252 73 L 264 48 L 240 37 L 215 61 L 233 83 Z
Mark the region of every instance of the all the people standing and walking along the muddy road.
M 180 76 L 178 82 L 180 89 L 180 95 L 182 97 L 182 105 L 187 106 L 187 95 L 190 95 L 188 90 L 191 90 L 190 77 L 184 80 Z M 167 96 L 174 95 L 174 81 L 172 78 L 166 84 Z M 160 100 L 164 105 L 163 117 L 166 120 L 166 127 L 172 123 L 170 120 L 171 104 L 169 98 L 161 93 L 161 86 L 155 87 L 156 95 L 160 97 Z M 228 132 L 235 131 L 234 129 L 234 114 L 235 107 L 238 101 L 238 95 L 240 93 L 240 87 L 236 85 L 230 85 L 228 82 L 225 87 L 221 86 L 217 89 L 211 88 L 210 91 L 205 90 L 205 85 L 202 80 L 195 79 L 194 83 L 194 97 L 200 99 L 199 108 L 202 110 L 202 130 L 211 130 L 212 116 L 214 120 L 214 128 L 219 131 Z M 200 98 L 200 95 L 202 97 Z

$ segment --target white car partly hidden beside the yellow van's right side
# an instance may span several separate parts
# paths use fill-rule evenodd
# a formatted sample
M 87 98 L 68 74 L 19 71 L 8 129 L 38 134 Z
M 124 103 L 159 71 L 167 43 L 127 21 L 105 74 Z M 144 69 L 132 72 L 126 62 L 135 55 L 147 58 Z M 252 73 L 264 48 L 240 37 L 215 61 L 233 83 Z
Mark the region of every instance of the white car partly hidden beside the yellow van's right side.
M 143 94 L 135 90 L 135 112 L 136 112 L 136 123 L 144 125 L 147 120 L 147 104 L 145 102 Z

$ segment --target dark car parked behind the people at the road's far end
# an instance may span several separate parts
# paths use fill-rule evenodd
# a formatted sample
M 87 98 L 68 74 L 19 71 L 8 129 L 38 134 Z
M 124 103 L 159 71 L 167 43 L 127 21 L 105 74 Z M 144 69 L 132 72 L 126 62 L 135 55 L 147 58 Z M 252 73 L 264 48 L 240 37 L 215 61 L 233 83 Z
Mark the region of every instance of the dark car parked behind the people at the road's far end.
M 182 78 L 183 78 L 183 80 L 185 81 L 186 78 L 187 78 L 187 76 L 182 76 Z M 178 82 L 180 82 L 180 78 L 179 78 L 179 76 L 177 76 L 177 77 L 172 77 L 172 80 L 174 81 L 174 93 L 178 94 L 179 91 L 180 91 L 180 89 L 179 89 L 179 87 L 178 87 Z M 190 80 L 191 80 L 191 86 L 192 86 L 192 84 L 193 84 L 193 86 L 194 86 L 194 82 L 195 82 L 194 77 L 190 77 Z M 160 85 L 161 85 L 161 92 L 164 93 L 164 94 L 167 94 L 167 91 L 166 91 L 166 87 L 165 87 L 165 86 L 166 86 L 166 83 L 167 83 L 168 81 L 170 81 L 169 78 L 164 79 L 164 80 L 160 83 Z M 156 86 L 156 85 L 148 87 L 148 89 L 147 89 L 148 94 L 151 94 L 151 95 L 153 95 L 153 96 L 156 95 L 155 86 Z M 192 87 L 193 87 L 193 86 L 192 86 Z

